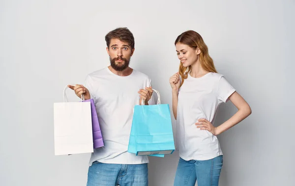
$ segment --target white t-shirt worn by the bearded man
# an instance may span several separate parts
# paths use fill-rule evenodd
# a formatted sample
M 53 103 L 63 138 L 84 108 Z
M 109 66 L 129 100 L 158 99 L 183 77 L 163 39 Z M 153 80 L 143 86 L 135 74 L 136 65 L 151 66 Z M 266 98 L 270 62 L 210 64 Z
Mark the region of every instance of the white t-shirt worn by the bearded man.
M 133 108 L 139 105 L 139 89 L 151 86 L 147 75 L 136 71 L 118 76 L 109 68 L 89 74 L 85 87 L 94 99 L 104 147 L 94 149 L 89 166 L 94 161 L 115 164 L 148 163 L 147 156 L 128 153 Z M 153 97 L 153 96 L 152 96 Z M 153 98 L 148 102 L 154 104 Z

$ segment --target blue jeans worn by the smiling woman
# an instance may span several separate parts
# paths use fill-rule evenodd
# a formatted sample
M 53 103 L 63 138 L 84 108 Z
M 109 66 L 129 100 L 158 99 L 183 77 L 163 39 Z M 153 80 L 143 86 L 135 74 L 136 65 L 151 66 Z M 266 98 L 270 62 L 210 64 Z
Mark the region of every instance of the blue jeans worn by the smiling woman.
M 223 156 L 208 160 L 179 159 L 174 186 L 218 186 Z

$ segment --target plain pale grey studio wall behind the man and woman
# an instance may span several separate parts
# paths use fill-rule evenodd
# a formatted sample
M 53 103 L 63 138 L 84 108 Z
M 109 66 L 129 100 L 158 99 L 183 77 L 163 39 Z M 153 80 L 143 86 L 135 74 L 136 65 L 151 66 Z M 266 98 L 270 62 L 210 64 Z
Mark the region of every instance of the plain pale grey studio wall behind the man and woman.
M 294 0 L 0 0 L 0 185 L 86 185 L 90 154 L 54 156 L 53 104 L 65 85 L 109 65 L 104 36 L 128 27 L 130 66 L 171 113 L 174 41 L 189 29 L 250 104 L 252 115 L 218 136 L 220 186 L 295 186 L 294 9 Z M 235 112 L 223 104 L 215 125 Z M 178 159 L 150 158 L 149 186 L 172 186 Z

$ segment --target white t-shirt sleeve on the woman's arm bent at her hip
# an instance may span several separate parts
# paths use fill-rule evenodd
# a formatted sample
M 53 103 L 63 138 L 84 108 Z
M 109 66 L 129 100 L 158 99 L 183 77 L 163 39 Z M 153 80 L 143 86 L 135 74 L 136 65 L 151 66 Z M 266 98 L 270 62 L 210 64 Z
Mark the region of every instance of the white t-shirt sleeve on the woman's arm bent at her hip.
M 236 89 L 222 76 L 218 82 L 217 95 L 220 102 L 226 103 Z

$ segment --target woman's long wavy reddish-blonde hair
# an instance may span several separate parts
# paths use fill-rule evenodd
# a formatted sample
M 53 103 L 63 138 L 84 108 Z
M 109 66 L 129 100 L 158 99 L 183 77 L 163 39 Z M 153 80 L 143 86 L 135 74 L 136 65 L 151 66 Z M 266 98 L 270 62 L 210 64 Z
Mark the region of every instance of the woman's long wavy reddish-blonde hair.
M 177 43 L 188 45 L 189 47 L 195 50 L 199 48 L 201 51 L 201 53 L 199 54 L 201 66 L 208 72 L 217 73 L 213 63 L 213 59 L 210 57 L 208 53 L 208 47 L 199 33 L 195 32 L 194 30 L 185 31 L 177 37 L 177 39 L 175 40 L 175 45 Z M 183 84 L 184 80 L 187 79 L 187 75 L 188 73 L 190 73 L 190 71 L 191 71 L 191 66 L 184 67 L 182 63 L 180 62 L 180 65 L 179 65 L 179 75 L 181 76 L 180 86 Z

